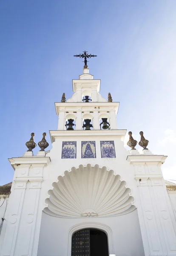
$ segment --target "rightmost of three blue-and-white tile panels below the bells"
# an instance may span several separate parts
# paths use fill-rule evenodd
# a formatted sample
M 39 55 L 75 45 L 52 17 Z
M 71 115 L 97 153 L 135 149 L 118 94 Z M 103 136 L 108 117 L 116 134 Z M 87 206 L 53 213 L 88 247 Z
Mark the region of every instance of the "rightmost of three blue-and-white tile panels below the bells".
M 114 147 L 114 141 L 100 141 L 102 158 L 115 158 L 116 152 Z

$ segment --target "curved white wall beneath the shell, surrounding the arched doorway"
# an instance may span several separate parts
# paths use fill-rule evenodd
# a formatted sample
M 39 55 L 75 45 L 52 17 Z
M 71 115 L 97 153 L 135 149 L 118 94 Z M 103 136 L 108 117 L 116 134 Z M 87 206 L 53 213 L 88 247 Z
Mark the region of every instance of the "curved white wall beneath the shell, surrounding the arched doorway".
M 112 230 L 112 247 L 116 256 L 144 256 L 137 210 L 113 218 L 56 218 L 43 212 L 37 256 L 68 256 L 70 227 L 82 222 L 102 223 Z M 69 254 L 70 256 L 71 254 Z

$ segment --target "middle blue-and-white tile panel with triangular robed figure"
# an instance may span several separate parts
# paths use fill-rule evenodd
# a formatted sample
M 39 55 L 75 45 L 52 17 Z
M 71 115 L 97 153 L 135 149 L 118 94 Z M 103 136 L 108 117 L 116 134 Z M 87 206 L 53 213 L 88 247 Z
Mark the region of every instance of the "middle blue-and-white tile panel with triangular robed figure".
M 81 158 L 96 158 L 95 141 L 81 142 Z

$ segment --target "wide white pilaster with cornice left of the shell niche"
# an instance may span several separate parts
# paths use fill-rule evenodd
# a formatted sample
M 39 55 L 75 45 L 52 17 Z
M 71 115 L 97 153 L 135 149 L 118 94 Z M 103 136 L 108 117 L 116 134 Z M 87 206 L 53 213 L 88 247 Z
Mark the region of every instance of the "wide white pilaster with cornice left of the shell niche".
M 38 208 L 43 168 L 50 162 L 49 157 L 19 157 L 9 159 L 13 168 L 14 188 L 11 190 L 6 214 L 7 227 L 1 256 L 37 256 L 34 240 L 39 240 L 42 210 Z M 33 249 L 32 249 L 33 248 Z M 33 250 L 33 253 L 32 253 Z

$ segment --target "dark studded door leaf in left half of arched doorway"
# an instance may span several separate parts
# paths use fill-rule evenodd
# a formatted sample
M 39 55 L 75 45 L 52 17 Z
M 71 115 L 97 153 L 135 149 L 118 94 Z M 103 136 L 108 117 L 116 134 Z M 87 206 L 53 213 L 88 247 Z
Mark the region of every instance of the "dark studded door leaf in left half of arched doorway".
M 79 230 L 73 234 L 71 256 L 90 256 L 90 229 Z

